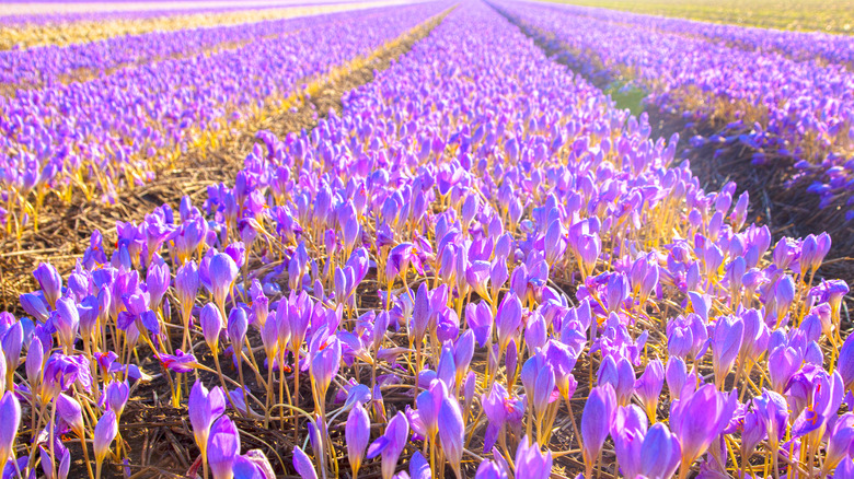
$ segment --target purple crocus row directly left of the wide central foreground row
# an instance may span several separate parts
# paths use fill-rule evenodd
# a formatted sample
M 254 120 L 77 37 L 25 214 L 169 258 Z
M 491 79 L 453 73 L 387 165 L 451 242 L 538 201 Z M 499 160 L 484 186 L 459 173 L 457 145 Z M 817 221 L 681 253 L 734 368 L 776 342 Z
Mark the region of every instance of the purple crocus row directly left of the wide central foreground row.
M 149 180 L 191 144 L 216 144 L 231 128 L 301 94 L 431 14 L 436 3 L 305 19 L 299 35 L 215 55 L 125 68 L 83 83 L 19 91 L 0 103 L 5 223 L 14 231 L 47 195 L 109 201 Z M 219 138 L 219 140 L 218 140 Z

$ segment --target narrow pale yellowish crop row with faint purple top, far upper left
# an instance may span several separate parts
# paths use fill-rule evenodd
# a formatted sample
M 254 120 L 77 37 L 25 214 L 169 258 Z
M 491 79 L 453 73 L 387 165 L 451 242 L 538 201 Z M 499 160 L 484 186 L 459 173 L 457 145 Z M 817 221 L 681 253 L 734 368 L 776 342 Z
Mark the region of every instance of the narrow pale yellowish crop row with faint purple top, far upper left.
M 5 16 L 0 17 L 0 50 L 45 45 L 73 45 L 105 40 L 122 35 L 172 32 L 210 25 L 238 25 L 358 10 L 378 7 L 383 3 L 388 4 L 388 2 L 376 1 L 366 2 L 365 4 L 341 3 L 272 9 L 231 8 L 204 12 L 191 10 L 142 11 L 124 14 Z

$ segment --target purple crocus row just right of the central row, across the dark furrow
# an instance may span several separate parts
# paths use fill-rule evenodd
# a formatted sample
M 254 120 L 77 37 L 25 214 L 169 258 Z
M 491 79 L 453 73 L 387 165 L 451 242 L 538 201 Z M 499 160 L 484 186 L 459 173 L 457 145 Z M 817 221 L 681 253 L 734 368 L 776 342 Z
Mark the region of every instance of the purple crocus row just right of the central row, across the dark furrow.
M 821 208 L 854 191 L 854 72 L 799 62 L 776 51 L 745 50 L 639 25 L 580 16 L 562 7 L 501 4 L 586 74 L 624 78 L 665 112 L 719 129 L 692 145 L 748 148 L 757 165 L 794 164 L 789 185 L 806 183 Z M 631 15 L 631 14 L 626 14 Z

